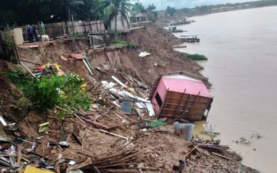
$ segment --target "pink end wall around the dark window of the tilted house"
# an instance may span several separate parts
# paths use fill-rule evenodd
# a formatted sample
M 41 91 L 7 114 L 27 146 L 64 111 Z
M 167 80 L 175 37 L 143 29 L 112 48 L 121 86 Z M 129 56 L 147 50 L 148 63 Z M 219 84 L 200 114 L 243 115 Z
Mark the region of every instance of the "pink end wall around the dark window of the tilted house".
M 166 93 L 167 93 L 167 88 L 166 86 L 163 84 L 163 80 L 160 80 L 156 90 L 154 91 L 153 97 L 152 97 L 152 104 L 154 104 L 154 111 L 157 115 L 159 115 L 159 113 L 161 112 L 161 107 L 159 107 L 159 104 L 157 102 L 157 100 L 155 99 L 156 93 L 158 92 L 161 100 L 164 101 L 166 99 Z

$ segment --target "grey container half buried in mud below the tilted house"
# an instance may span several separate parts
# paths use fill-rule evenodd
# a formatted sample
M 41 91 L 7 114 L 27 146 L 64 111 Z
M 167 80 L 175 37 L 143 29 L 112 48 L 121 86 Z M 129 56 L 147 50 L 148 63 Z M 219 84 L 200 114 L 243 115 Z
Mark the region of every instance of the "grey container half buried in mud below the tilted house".
M 195 125 L 193 123 L 174 123 L 174 134 L 180 138 L 184 138 L 187 141 L 190 141 L 193 137 L 193 129 Z

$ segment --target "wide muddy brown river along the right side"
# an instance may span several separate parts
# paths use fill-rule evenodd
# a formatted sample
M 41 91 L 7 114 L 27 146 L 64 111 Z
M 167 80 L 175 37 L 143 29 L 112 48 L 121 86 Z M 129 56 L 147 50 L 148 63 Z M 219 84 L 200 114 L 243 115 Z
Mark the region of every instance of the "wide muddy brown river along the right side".
M 277 172 L 277 6 L 193 17 L 177 26 L 179 35 L 198 35 L 199 43 L 177 48 L 206 55 L 202 74 L 213 84 L 208 122 L 222 144 L 243 157 L 244 165 Z M 185 70 L 185 69 L 184 69 Z M 250 138 L 260 134 L 262 138 Z M 241 137 L 251 145 L 234 143 Z

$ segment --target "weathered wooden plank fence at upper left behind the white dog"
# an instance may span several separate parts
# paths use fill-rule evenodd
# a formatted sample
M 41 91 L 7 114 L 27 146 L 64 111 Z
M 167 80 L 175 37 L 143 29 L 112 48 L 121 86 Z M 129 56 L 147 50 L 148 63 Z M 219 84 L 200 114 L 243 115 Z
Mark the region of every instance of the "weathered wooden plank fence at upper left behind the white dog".
M 34 24 L 37 28 L 38 35 L 39 26 Z M 28 40 L 28 33 L 26 32 L 27 25 L 19 26 L 24 30 L 24 40 Z M 45 33 L 50 38 L 60 37 L 62 35 L 87 35 L 89 33 L 105 33 L 105 27 L 102 21 L 67 21 L 56 22 L 51 24 L 44 24 Z

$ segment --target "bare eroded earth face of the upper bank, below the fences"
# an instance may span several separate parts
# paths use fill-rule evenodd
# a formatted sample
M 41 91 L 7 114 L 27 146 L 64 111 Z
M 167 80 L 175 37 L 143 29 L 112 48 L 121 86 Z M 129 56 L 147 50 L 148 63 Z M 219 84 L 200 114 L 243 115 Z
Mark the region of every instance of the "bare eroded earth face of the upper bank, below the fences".
M 125 46 L 109 46 L 105 48 L 88 49 L 88 42 L 79 40 L 75 46 L 79 52 L 87 53 L 91 66 L 108 65 L 108 52 L 118 52 L 122 71 L 136 78 L 140 78 L 151 84 L 155 76 L 159 73 L 169 71 L 187 71 L 196 75 L 201 75 L 199 66 L 181 53 L 174 51 L 172 46 L 180 44 L 179 40 L 163 28 L 157 28 L 148 24 L 146 27 L 130 30 L 129 33 L 121 33 L 117 39 L 126 40 L 129 44 L 138 46 L 137 48 L 127 48 Z M 85 77 L 89 74 L 82 60 L 75 60 L 70 57 L 73 53 L 71 41 L 50 42 L 42 44 L 37 48 L 18 48 L 21 60 L 46 64 L 47 62 L 57 62 L 62 66 L 64 72 L 74 72 Z M 139 57 L 139 53 L 148 52 L 151 55 Z M 60 55 L 68 58 L 68 61 L 60 59 Z M 31 69 L 35 66 L 24 62 Z M 154 66 L 154 64 L 159 66 Z

